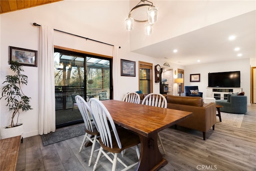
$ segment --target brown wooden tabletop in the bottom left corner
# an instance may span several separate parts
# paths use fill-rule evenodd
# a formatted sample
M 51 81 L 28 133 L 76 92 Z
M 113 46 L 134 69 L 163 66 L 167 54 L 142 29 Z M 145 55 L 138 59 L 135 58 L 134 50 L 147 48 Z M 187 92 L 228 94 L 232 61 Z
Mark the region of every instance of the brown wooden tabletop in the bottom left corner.
M 15 171 L 21 136 L 0 140 L 1 171 Z

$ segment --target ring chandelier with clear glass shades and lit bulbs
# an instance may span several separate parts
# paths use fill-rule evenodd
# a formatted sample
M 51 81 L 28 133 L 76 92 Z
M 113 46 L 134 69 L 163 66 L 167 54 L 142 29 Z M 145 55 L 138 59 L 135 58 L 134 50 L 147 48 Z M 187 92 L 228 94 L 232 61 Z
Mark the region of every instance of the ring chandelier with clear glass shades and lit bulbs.
M 145 34 L 146 35 L 152 34 L 153 24 L 154 24 L 154 22 L 157 21 L 157 8 L 153 5 L 152 2 L 149 2 L 151 4 L 140 4 L 141 2 L 145 3 L 145 1 L 149 2 L 147 0 L 140 0 L 140 2 L 134 8 L 132 8 L 132 10 L 129 12 L 128 18 L 125 19 L 125 29 L 126 30 L 128 30 L 128 31 L 133 30 L 133 22 L 134 21 L 135 22 L 147 22 L 144 26 Z M 134 11 L 137 8 L 144 7 L 144 6 L 148 7 L 148 9 L 147 9 L 148 19 L 147 20 L 136 20 L 136 19 L 132 18 L 132 16 L 131 16 L 132 11 Z

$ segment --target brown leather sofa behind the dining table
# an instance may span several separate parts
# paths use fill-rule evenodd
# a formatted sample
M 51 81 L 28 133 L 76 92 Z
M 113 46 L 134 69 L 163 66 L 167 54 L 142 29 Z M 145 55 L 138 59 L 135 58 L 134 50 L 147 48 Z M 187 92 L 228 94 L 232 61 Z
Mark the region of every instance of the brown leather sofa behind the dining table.
M 140 94 L 140 103 L 146 94 Z M 193 114 L 177 123 L 177 125 L 196 129 L 203 132 L 203 139 L 206 139 L 206 132 L 216 123 L 216 105 L 215 103 L 204 103 L 202 97 L 186 97 L 165 95 L 167 99 L 167 108 L 182 111 L 190 111 Z

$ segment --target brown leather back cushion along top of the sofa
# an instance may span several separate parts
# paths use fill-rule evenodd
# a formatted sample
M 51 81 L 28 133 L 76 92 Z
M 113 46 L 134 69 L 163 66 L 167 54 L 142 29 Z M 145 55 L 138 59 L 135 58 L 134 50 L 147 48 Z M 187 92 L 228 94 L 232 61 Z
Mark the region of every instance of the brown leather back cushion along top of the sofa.
M 191 106 L 197 106 L 197 107 L 202 107 L 204 105 L 202 97 L 167 95 L 166 99 L 167 99 L 167 103 L 191 105 Z

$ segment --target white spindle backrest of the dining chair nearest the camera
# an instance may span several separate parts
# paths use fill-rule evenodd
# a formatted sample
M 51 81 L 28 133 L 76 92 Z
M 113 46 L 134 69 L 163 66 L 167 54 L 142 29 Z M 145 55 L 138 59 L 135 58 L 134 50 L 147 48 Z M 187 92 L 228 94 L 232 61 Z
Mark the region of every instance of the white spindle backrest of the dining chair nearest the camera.
M 96 98 L 90 99 L 90 105 L 92 108 L 92 115 L 94 116 L 96 125 L 98 126 L 98 131 L 100 133 L 100 139 L 102 143 L 104 143 L 104 145 L 108 147 L 110 145 L 110 147 L 113 148 L 110 131 L 112 130 L 114 132 L 116 142 L 118 143 L 118 147 L 121 149 L 122 145 L 118 133 L 116 131 L 116 126 L 110 113 L 108 112 L 108 109 L 103 105 L 103 103 L 100 100 Z

